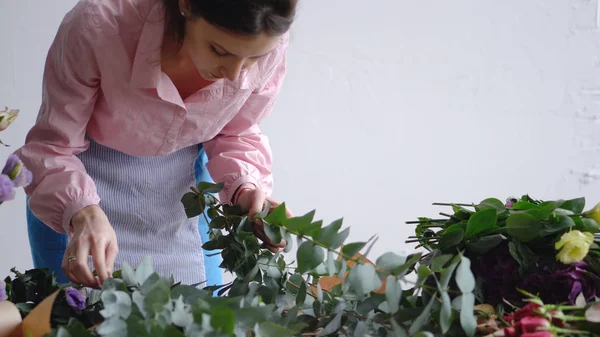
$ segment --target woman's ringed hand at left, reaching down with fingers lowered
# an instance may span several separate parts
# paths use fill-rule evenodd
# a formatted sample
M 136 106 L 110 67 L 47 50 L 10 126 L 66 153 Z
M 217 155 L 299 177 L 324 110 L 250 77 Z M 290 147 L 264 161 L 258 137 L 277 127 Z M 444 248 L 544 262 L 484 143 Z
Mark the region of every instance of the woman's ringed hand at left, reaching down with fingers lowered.
M 117 235 L 98 206 L 88 206 L 75 213 L 71 225 L 74 234 L 65 251 L 62 270 L 72 282 L 100 288 L 114 268 L 118 253 Z M 98 279 L 89 268 L 90 255 Z

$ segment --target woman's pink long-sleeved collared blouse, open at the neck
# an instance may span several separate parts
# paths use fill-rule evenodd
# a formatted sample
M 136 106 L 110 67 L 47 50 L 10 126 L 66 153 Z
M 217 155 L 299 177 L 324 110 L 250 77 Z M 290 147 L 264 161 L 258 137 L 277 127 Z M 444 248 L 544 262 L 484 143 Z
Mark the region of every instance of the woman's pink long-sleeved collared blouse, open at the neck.
M 46 60 L 37 122 L 17 155 L 33 172 L 32 212 L 64 232 L 74 213 L 98 204 L 76 155 L 96 142 L 132 156 L 164 156 L 203 144 L 211 177 L 229 201 L 245 183 L 272 191 L 271 150 L 259 123 L 281 88 L 286 34 L 236 81 L 221 79 L 182 100 L 161 71 L 159 0 L 80 0 Z

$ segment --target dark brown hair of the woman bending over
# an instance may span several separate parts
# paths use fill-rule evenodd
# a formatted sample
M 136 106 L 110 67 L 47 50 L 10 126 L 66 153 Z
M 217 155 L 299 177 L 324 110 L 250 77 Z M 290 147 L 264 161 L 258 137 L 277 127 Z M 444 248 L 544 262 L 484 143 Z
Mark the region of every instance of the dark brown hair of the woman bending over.
M 225 30 L 245 35 L 288 31 L 296 15 L 298 0 L 188 0 L 195 17 Z M 178 0 L 162 0 L 165 6 L 165 31 L 181 43 L 185 20 Z

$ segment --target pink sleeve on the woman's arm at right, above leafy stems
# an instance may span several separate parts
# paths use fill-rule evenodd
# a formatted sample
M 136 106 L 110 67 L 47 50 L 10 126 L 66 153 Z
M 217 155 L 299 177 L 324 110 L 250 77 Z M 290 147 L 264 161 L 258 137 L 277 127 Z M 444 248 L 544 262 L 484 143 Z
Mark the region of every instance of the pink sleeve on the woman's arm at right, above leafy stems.
M 287 40 L 264 85 L 256 89 L 240 112 L 212 140 L 204 143 L 207 168 L 216 182 L 224 183 L 219 198 L 232 201 L 245 183 L 259 187 L 268 196 L 273 190 L 272 153 L 269 140 L 260 130 L 261 121 L 270 114 L 286 73 Z

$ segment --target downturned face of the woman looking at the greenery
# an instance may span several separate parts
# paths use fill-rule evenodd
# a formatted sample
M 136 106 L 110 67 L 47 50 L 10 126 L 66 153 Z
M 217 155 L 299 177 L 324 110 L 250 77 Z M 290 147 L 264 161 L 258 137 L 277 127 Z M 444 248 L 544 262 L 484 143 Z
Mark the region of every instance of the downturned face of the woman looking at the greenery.
M 189 57 L 200 75 L 209 81 L 227 78 L 235 81 L 240 72 L 271 52 L 279 36 L 265 33 L 247 36 L 228 32 L 202 18 L 186 14 L 186 32 L 181 51 Z

